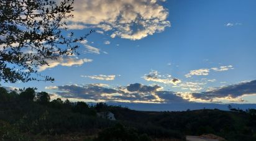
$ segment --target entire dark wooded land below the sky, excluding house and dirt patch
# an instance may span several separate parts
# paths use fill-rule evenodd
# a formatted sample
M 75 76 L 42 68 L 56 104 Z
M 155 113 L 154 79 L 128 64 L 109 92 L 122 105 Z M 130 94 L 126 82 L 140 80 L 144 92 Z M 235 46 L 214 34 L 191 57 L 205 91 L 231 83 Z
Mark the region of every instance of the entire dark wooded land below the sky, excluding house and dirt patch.
M 202 134 L 256 140 L 256 110 L 229 109 L 144 112 L 102 102 L 50 101 L 48 93 L 33 88 L 17 93 L 0 87 L 0 140 L 185 140 Z M 100 118 L 100 112 L 112 112 L 117 120 Z

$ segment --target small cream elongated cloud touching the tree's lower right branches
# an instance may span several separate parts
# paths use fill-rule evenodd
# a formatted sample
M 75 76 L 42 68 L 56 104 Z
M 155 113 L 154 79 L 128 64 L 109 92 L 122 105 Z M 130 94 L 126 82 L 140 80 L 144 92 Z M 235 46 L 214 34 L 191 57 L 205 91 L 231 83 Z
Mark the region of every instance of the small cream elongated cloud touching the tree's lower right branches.
M 76 58 L 70 56 L 60 56 L 57 60 L 47 60 L 48 65 L 39 66 L 39 71 L 46 70 L 47 68 L 54 68 L 55 66 L 80 66 L 83 63 L 88 63 L 93 60 L 87 58 Z

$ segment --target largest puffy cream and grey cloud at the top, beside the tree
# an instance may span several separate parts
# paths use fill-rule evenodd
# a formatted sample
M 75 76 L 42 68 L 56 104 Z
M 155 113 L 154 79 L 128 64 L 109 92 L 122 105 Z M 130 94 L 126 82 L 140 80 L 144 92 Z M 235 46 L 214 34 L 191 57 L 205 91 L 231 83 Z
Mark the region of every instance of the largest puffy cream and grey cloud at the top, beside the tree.
M 75 1 L 70 24 L 112 31 L 111 37 L 140 40 L 170 27 L 168 10 L 155 0 Z

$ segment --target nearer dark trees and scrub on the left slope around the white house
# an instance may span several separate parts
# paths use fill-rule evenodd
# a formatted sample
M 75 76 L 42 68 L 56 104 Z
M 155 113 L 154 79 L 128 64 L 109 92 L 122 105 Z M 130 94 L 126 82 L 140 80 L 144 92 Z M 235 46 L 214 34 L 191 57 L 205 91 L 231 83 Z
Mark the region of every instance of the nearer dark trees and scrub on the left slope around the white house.
M 34 88 L 19 91 L 0 87 L 0 140 L 49 140 L 46 136 L 77 133 L 82 134 L 81 140 L 151 140 L 132 127 L 97 116 L 114 106 L 59 98 L 50 101 L 48 93 L 35 93 Z M 71 139 L 57 136 L 57 140 Z

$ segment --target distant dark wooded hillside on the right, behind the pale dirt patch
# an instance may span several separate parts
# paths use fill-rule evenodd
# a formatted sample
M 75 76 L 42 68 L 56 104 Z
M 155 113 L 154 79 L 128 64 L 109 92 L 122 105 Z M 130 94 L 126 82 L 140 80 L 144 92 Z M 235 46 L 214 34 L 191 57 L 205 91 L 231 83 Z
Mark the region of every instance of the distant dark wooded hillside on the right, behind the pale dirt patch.
M 250 111 L 250 112 L 249 112 Z M 202 109 L 183 112 L 142 112 L 112 107 L 116 119 L 150 137 L 216 134 L 227 140 L 256 140 L 254 109 L 248 112 Z

